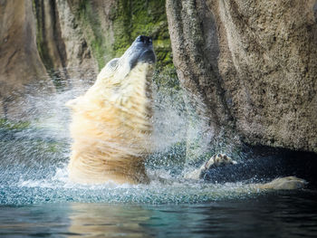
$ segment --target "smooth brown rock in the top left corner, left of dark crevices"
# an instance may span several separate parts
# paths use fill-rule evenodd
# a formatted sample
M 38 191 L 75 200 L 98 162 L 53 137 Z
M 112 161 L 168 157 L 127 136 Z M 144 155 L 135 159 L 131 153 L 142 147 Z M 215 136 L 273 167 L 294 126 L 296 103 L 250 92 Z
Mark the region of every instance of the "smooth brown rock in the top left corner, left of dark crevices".
M 0 114 L 13 115 L 25 85 L 39 81 L 45 68 L 36 49 L 31 1 L 0 2 Z M 42 79 L 45 81 L 45 79 Z M 49 81 L 45 82 L 50 84 Z

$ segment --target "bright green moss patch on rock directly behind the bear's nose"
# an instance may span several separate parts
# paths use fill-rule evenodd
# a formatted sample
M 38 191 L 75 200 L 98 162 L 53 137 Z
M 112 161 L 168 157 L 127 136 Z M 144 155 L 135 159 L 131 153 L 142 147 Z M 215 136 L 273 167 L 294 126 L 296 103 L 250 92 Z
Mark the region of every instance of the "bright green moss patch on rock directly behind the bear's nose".
M 119 57 L 139 35 L 153 38 L 157 67 L 172 67 L 165 0 L 120 0 L 113 10 L 113 49 Z

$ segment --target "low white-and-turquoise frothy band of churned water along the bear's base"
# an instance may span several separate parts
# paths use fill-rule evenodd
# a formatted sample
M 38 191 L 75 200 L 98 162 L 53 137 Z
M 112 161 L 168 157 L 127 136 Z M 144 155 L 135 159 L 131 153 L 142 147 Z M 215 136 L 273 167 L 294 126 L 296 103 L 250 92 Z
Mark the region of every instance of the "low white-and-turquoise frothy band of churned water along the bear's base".
M 118 186 L 107 183 L 99 186 L 84 186 L 68 181 L 66 169 L 60 168 L 51 177 L 43 179 L 20 177 L 19 180 L 11 181 L 8 185 L 1 184 L 0 204 L 25 205 L 62 202 L 195 204 L 255 195 L 255 191 L 241 183 L 207 184 L 178 180 L 168 174 L 167 176 L 168 184 L 154 179 L 149 185 Z

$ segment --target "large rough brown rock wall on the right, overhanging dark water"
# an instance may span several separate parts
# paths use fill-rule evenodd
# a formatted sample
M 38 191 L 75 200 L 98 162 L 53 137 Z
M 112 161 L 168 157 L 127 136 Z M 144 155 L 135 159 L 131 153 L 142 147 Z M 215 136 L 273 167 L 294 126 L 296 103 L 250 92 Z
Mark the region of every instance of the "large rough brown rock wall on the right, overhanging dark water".
M 219 1 L 214 10 L 233 63 L 221 57 L 219 68 L 233 75 L 226 89 L 249 143 L 317 151 L 314 2 Z

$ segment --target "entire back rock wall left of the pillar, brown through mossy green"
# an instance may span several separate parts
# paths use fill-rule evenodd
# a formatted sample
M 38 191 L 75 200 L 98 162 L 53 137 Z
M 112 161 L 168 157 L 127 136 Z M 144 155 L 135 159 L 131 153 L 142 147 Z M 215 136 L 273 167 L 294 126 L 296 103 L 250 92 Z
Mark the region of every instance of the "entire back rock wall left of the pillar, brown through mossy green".
M 21 119 L 14 111 L 30 88 L 43 93 L 31 86 L 40 81 L 90 81 L 139 34 L 153 36 L 159 71 L 173 71 L 164 0 L 1 0 L 0 117 Z

